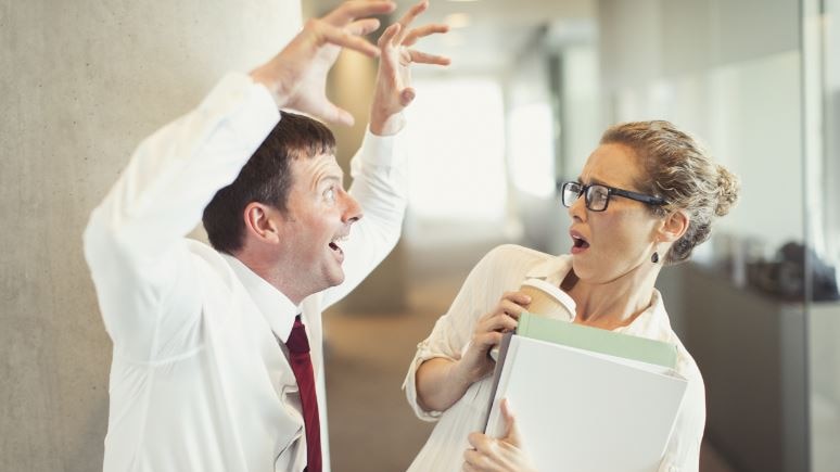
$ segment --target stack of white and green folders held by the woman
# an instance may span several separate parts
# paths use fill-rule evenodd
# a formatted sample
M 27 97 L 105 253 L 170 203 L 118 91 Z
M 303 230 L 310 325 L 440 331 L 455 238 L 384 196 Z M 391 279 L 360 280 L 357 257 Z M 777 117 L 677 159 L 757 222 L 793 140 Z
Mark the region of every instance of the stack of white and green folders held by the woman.
M 508 398 L 540 471 L 656 471 L 687 382 L 676 346 L 523 314 L 496 365 L 485 433 L 507 431 Z

